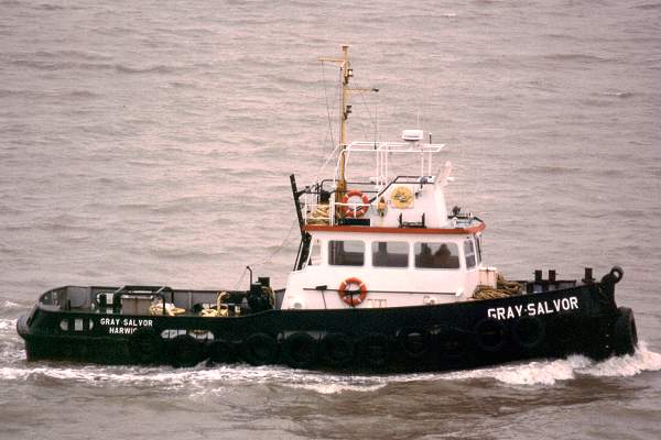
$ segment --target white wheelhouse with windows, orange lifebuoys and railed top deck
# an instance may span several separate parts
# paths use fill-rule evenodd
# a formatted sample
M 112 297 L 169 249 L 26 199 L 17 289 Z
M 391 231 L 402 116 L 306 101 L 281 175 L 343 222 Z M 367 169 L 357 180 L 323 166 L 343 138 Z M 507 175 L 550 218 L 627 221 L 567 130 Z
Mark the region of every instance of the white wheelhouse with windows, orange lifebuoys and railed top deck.
M 300 193 L 293 183 L 302 243 L 283 308 L 405 307 L 472 296 L 485 224 L 458 208 L 448 215 L 443 188 L 452 165 L 432 174 L 443 145 L 422 138 L 420 131 L 403 143 L 347 145 L 336 174 L 362 179 L 336 176 Z M 393 164 L 408 173 L 390 176 Z

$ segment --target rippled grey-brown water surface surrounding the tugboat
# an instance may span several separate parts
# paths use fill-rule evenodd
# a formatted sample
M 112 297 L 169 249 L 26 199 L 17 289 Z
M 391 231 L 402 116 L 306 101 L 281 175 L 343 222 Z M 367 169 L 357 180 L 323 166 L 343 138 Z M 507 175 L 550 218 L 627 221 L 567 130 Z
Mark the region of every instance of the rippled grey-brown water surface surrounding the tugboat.
M 288 176 L 337 141 L 317 57 L 342 43 L 380 89 L 350 138 L 446 143 L 449 202 L 509 278 L 620 264 L 638 352 L 401 376 L 26 363 L 15 320 L 51 287 L 285 283 Z M 659 439 L 660 218 L 658 0 L 0 0 L 0 439 Z

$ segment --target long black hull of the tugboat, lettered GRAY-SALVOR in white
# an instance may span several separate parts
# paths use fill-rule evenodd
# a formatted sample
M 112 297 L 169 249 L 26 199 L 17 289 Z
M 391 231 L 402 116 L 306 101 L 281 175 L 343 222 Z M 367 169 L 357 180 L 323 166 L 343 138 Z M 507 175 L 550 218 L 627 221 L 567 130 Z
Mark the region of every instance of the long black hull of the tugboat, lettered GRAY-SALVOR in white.
M 58 310 L 18 322 L 30 361 L 191 366 L 248 362 L 370 373 L 448 371 L 579 353 L 632 353 L 636 326 L 611 274 L 541 294 L 403 308 L 267 310 L 201 318 Z M 67 329 L 62 329 L 62 321 Z

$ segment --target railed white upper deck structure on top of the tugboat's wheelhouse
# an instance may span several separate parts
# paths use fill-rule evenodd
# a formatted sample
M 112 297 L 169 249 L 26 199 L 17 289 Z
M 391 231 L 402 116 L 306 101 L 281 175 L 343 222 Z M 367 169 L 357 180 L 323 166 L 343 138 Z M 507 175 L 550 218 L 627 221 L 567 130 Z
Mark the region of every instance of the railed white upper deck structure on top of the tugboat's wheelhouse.
M 345 232 L 369 229 L 384 233 L 415 229 L 424 230 L 422 233 L 455 233 L 458 228 L 462 230 L 458 233 L 478 232 L 473 229 L 479 224 L 484 229 L 479 220 L 448 216 L 444 187 L 452 165 L 446 162 L 434 168 L 434 158 L 443 148 L 444 144 L 422 142 L 350 143 L 340 152 L 335 177 L 303 191 L 305 229 L 340 231 L 334 228 L 343 228 Z M 338 180 L 340 164 L 347 176 L 344 190 Z

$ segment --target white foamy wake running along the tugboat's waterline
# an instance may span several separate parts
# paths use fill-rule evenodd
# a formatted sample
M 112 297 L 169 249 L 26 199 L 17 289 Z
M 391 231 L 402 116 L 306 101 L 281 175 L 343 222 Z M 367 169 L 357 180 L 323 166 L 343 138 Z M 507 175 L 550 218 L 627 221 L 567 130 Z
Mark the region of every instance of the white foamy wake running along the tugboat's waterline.
M 13 321 L 15 324 L 15 320 Z M 15 359 L 20 353 L 13 343 Z M 7 351 L 7 350 L 4 350 Z M 36 366 L 34 366 L 36 365 Z M 581 376 L 630 377 L 646 371 L 661 370 L 661 354 L 650 351 L 644 343 L 632 355 L 595 362 L 582 355 L 563 360 L 533 361 L 521 364 L 470 370 L 453 373 L 421 373 L 392 376 L 338 375 L 322 372 L 291 370 L 281 366 L 226 365 L 207 367 L 205 363 L 191 369 L 134 366 L 72 366 L 57 363 L 8 365 L 0 367 L 0 380 L 54 380 L 85 383 L 90 386 L 158 386 L 160 389 L 187 389 L 194 395 L 214 393 L 224 385 L 271 384 L 311 391 L 318 394 L 345 392 L 371 393 L 391 384 L 435 381 L 492 380 L 508 385 L 553 386 L 559 382 Z

